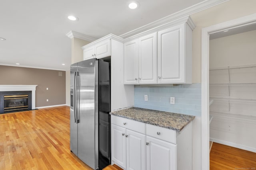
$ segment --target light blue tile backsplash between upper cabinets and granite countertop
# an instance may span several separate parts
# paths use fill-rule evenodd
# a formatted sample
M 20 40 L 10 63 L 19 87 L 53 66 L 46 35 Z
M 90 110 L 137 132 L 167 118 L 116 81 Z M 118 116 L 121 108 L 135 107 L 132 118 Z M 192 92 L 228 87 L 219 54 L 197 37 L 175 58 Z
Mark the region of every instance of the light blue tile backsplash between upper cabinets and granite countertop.
M 148 101 L 144 101 L 144 95 Z M 170 104 L 175 97 L 175 104 Z M 174 86 L 134 86 L 134 106 L 201 116 L 201 84 L 177 84 Z

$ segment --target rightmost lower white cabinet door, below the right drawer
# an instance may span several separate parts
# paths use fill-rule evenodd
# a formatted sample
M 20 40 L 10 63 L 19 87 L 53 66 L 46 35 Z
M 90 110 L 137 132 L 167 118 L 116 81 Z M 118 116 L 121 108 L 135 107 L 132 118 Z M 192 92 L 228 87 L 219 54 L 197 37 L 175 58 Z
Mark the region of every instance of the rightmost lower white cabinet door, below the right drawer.
M 176 145 L 146 137 L 147 170 L 176 170 Z

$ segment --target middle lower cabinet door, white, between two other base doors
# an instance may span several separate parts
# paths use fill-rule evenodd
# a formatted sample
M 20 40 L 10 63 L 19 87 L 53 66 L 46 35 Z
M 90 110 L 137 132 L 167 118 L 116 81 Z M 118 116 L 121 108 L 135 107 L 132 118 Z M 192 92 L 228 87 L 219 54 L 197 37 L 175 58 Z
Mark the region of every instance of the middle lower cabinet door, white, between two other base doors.
M 126 130 L 127 170 L 146 169 L 146 135 Z

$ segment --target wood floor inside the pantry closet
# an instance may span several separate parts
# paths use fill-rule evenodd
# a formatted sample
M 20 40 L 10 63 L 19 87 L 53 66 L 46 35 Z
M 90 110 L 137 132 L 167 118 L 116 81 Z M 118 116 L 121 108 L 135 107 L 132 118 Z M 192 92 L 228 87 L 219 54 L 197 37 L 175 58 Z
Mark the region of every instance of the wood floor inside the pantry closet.
M 256 170 L 256 153 L 213 143 L 210 170 Z

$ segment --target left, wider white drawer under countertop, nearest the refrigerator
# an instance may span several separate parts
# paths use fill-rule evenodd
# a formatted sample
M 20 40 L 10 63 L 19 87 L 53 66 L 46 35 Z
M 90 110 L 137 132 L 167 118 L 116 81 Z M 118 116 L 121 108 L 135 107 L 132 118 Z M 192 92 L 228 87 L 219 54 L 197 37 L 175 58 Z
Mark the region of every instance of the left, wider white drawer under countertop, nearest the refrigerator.
M 143 134 L 146 133 L 145 132 L 146 124 L 139 121 L 134 121 L 131 119 L 126 119 L 123 117 L 111 115 L 111 123 L 121 127 L 125 127 L 126 129 L 139 132 L 139 133 L 143 133 Z

